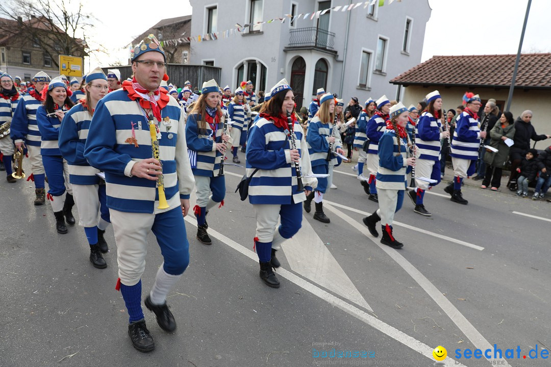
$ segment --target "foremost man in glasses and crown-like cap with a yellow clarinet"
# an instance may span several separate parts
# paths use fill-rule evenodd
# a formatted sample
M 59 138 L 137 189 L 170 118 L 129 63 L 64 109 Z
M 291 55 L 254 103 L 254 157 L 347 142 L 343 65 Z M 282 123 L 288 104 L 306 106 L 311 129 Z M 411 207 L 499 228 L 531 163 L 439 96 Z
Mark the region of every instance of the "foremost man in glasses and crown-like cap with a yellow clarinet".
M 155 343 L 141 306 L 147 235 L 155 234 L 164 262 L 145 306 L 155 313 L 163 330 L 172 332 L 176 321 L 166 295 L 190 261 L 183 216 L 190 207 L 194 181 L 181 108 L 159 87 L 161 79 L 168 79 L 164 50 L 149 35 L 132 51 L 134 79 L 125 80 L 120 90 L 98 102 L 84 157 L 90 166 L 105 172 L 107 207 L 117 244 L 116 289 L 125 300 L 134 348 L 149 352 Z M 162 193 L 166 209 L 159 208 Z

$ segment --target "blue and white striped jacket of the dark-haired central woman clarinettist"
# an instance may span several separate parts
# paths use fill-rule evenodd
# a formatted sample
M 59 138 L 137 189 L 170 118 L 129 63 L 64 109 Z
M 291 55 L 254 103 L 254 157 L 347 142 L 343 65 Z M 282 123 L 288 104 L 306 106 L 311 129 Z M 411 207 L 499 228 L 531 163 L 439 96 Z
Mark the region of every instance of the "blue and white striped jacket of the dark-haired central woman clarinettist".
M 299 163 L 302 176 L 310 174 L 310 155 L 299 123 L 294 124 L 295 144 L 299 150 Z M 290 147 L 282 129 L 271 120 L 259 119 L 251 129 L 247 140 L 246 173 L 247 177 L 258 168 L 249 185 L 251 204 L 292 204 L 306 200 L 304 192 L 296 191 L 296 170 L 291 164 Z M 305 189 L 317 187 L 317 179 L 302 177 Z

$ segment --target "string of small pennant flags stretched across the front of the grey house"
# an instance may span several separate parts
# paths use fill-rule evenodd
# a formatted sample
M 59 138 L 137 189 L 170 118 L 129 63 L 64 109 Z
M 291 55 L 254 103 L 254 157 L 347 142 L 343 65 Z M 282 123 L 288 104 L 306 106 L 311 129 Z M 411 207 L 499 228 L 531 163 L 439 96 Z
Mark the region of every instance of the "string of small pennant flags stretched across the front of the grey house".
M 336 6 L 336 7 L 328 8 L 328 9 L 324 9 L 324 10 L 317 10 L 317 12 L 301 13 L 301 14 L 298 14 L 298 15 L 284 14 L 283 17 L 277 17 L 277 18 L 273 18 L 273 19 L 257 21 L 255 23 L 251 23 L 251 24 L 241 25 L 239 23 L 235 23 L 235 28 L 226 29 L 224 31 L 211 32 L 211 33 L 207 33 L 207 34 L 203 34 L 203 35 L 196 35 L 196 36 L 190 36 L 190 37 L 180 37 L 180 38 L 171 39 L 171 40 L 163 40 L 163 41 L 160 41 L 160 43 L 161 43 L 162 47 L 169 47 L 169 46 L 177 47 L 177 46 L 183 45 L 184 43 L 191 43 L 192 41 L 193 42 L 215 41 L 215 40 L 218 40 L 220 37 L 222 37 L 222 39 L 226 39 L 226 38 L 229 38 L 230 36 L 234 36 L 238 33 L 244 32 L 249 28 L 253 29 L 253 27 L 256 26 L 256 25 L 271 24 L 276 20 L 279 20 L 281 22 L 281 24 L 283 24 L 283 23 L 285 23 L 285 20 L 287 18 L 290 19 L 289 21 L 291 23 L 293 23 L 296 19 L 300 19 L 300 18 L 302 18 L 302 20 L 305 20 L 306 18 L 310 18 L 310 20 L 313 20 L 314 18 L 319 19 L 321 15 L 326 14 L 327 12 L 330 12 L 330 11 L 338 12 L 339 10 L 341 12 L 350 12 L 351 10 L 359 8 L 361 5 L 364 6 L 363 7 L 364 9 L 366 9 L 368 6 L 375 6 L 375 4 L 377 4 L 379 7 L 382 7 L 382 6 L 385 5 L 385 1 L 389 5 L 392 4 L 393 2 L 398 2 L 398 3 L 402 2 L 402 0 L 368 0 L 368 1 L 360 1 L 358 3 L 352 3 L 348 6 L 346 6 L 346 5 L 345 6 Z M 132 48 L 133 48 L 132 44 L 128 45 L 128 48 L 129 48 L 129 50 L 132 50 Z

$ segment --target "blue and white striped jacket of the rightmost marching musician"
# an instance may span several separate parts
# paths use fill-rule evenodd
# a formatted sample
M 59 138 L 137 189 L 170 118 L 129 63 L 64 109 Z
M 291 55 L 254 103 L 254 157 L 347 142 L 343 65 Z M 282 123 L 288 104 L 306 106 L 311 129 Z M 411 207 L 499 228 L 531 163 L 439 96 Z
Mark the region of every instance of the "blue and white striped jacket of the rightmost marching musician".
M 457 119 L 456 128 L 451 141 L 451 156 L 466 160 L 478 159 L 480 146 L 480 122 L 467 111 L 463 111 Z

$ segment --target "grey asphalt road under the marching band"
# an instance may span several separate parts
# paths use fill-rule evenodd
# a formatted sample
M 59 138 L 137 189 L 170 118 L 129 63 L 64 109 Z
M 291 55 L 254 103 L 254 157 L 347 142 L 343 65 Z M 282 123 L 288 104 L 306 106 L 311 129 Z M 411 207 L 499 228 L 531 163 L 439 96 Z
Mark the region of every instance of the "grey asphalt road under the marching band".
M 233 192 L 242 171 L 227 167 L 225 205 L 208 215 L 213 244 L 199 243 L 195 221 L 186 222 L 190 267 L 168 298 L 177 330 L 165 333 L 145 310 L 156 343 L 149 354 L 134 350 L 126 333 L 112 228 L 108 267 L 95 269 L 83 228 L 57 234 L 50 205 L 33 205 L 32 184 L 2 181 L 0 366 L 431 366 L 439 345 L 457 361 L 446 359 L 449 366 L 551 363 L 542 359 L 551 347 L 550 203 L 467 180 L 463 206 L 445 197 L 441 184 L 431 193 L 445 196 L 425 195 L 431 217 L 414 213 L 405 199 L 395 218 L 408 226 L 395 226 L 405 245 L 393 250 L 365 234 L 360 212 L 377 204 L 350 167 L 336 168 L 344 172 L 335 173 L 338 189 L 325 196 L 331 223 L 304 213 L 304 226 L 314 229 L 372 311 L 294 271 L 296 261 L 283 251 L 282 286 L 266 287 L 252 253 L 252 206 Z M 162 261 L 152 234 L 149 243 L 144 294 Z M 515 349 L 514 358 L 456 358 L 456 349 L 494 344 L 503 357 Z M 539 358 L 531 359 L 536 345 Z M 372 357 L 315 357 L 333 348 Z

